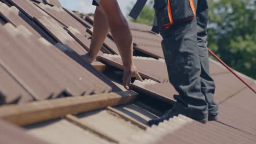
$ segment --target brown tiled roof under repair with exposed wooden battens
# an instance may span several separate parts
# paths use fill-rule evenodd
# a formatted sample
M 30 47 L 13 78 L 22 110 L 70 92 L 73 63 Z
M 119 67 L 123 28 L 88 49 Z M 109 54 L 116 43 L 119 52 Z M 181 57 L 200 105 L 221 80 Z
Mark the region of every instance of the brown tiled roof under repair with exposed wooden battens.
M 256 143 L 255 93 L 213 59 L 219 120 L 178 116 L 149 127 L 177 92 L 168 82 L 161 37 L 149 26 L 129 26 L 144 79 L 132 81 L 133 91 L 121 84 L 111 33 L 97 62 L 84 61 L 93 17 L 59 1 L 0 0 L 0 143 Z

